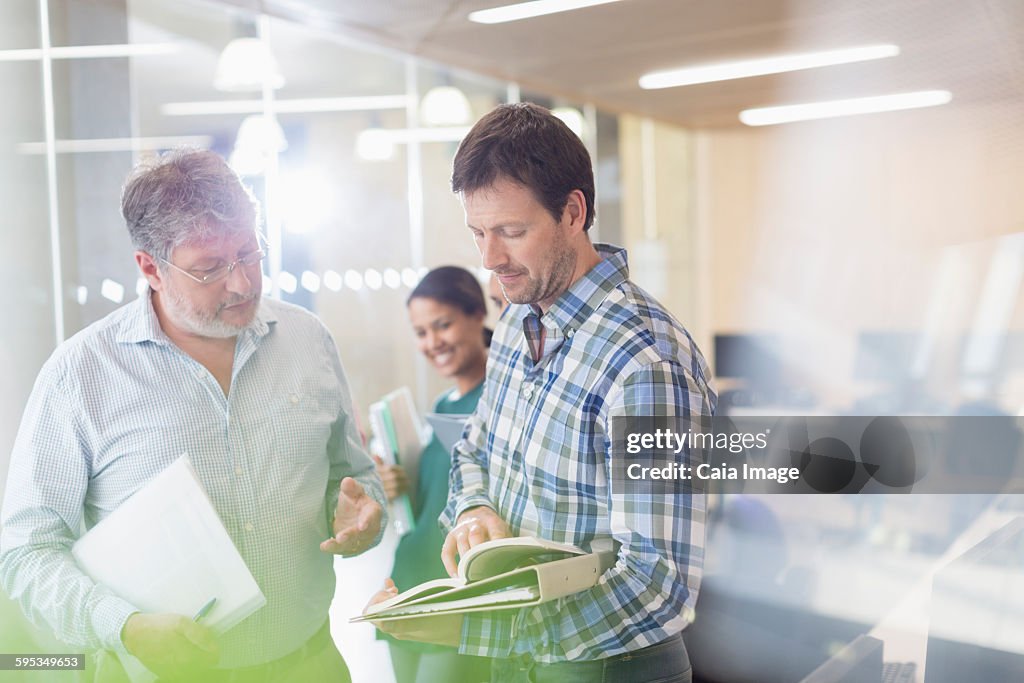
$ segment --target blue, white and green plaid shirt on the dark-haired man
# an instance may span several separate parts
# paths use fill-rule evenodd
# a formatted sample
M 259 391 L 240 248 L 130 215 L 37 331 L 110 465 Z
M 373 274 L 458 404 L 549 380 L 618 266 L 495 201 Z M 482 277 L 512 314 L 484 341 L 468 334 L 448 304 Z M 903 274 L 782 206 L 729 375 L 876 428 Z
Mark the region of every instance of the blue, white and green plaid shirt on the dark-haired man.
M 532 308 L 502 317 L 483 395 L 453 452 L 440 521 L 451 527 L 486 505 L 517 536 L 585 549 L 613 539 L 617 562 L 567 598 L 467 614 L 465 653 L 597 659 L 660 642 L 692 621 L 703 496 L 618 490 L 610 430 L 612 417 L 710 416 L 710 372 L 682 326 L 629 281 L 626 252 L 596 247 L 603 260 L 541 316 L 537 362 L 523 327 Z

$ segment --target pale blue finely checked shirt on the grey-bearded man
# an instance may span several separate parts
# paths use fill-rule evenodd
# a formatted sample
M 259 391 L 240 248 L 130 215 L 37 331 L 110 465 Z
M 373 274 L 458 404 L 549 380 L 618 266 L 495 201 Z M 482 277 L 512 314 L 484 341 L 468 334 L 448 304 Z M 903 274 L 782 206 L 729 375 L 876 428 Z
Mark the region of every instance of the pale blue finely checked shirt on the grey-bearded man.
M 334 341 L 302 308 L 262 301 L 238 337 L 224 395 L 142 296 L 68 340 L 40 372 L 11 457 L 0 581 L 67 644 L 123 649 L 137 609 L 86 577 L 71 546 L 187 453 L 267 600 L 221 638 L 220 666 L 283 656 L 328 616 L 334 564 L 319 543 L 338 482 L 353 476 L 384 503 L 352 416 Z

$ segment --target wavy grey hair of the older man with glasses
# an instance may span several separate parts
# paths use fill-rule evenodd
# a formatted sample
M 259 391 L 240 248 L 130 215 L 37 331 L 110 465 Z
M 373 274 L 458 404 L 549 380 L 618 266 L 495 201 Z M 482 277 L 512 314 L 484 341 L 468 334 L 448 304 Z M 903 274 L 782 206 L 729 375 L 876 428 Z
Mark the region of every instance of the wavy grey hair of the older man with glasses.
M 136 249 L 170 260 L 175 247 L 254 230 L 259 204 L 219 155 L 181 147 L 132 169 L 121 215 Z

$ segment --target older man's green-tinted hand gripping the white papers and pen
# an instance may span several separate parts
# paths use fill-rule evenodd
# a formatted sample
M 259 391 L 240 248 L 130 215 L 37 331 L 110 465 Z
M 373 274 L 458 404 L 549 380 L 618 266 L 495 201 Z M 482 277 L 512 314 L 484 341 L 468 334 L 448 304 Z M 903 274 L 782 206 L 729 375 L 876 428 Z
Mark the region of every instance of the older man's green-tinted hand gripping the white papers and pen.
M 201 680 L 220 656 L 213 631 L 181 614 L 135 612 L 125 622 L 121 640 L 146 669 L 167 681 Z

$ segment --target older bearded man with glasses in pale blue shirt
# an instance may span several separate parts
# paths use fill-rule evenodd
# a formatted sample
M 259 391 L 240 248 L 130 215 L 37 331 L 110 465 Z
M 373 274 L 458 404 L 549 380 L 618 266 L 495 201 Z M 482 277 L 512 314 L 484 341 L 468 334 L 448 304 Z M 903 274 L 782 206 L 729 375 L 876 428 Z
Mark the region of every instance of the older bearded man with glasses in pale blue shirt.
M 127 651 L 163 679 L 349 680 L 328 627 L 332 554 L 376 545 L 384 496 L 335 343 L 261 299 L 256 203 L 217 155 L 136 168 L 122 214 L 148 291 L 40 372 L 7 480 L 3 587 L 69 646 Z M 141 612 L 70 554 L 182 453 L 266 596 L 219 638 Z

